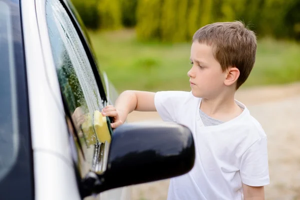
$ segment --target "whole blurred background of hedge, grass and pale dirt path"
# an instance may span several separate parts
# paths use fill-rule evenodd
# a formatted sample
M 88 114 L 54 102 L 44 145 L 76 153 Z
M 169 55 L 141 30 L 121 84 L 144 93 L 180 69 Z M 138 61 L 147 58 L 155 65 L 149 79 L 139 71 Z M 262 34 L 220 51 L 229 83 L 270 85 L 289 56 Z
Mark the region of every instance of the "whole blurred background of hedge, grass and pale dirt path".
M 236 93 L 268 136 L 266 199 L 300 199 L 300 0 L 71 0 L 99 67 L 120 92 L 189 90 L 193 33 L 243 21 L 257 38 L 256 62 Z M 159 120 L 157 113 L 129 121 Z M 132 187 L 133 199 L 166 199 L 168 180 Z

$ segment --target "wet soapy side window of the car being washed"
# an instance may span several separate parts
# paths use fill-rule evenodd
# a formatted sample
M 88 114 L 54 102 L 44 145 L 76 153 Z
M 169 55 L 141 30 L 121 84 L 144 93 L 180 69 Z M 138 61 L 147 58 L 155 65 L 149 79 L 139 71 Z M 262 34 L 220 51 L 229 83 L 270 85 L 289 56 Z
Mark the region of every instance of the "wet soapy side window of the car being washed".
M 59 0 L 46 0 L 48 34 L 62 95 L 66 101 L 84 157 L 94 170 L 102 163 L 101 144 L 95 117 L 100 118 L 104 102 L 80 37 Z M 100 130 L 101 131 L 101 130 Z M 110 140 L 109 140 L 110 141 Z M 103 154 L 103 153 L 102 153 Z

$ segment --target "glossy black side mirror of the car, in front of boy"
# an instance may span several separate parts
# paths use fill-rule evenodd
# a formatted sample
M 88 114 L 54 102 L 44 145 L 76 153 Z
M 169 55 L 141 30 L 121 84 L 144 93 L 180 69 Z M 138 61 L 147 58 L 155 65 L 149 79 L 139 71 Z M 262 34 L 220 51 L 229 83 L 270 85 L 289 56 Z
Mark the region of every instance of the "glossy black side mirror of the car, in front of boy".
M 83 196 L 187 173 L 195 159 L 190 130 L 175 123 L 128 123 L 112 134 L 106 170 L 89 172 Z

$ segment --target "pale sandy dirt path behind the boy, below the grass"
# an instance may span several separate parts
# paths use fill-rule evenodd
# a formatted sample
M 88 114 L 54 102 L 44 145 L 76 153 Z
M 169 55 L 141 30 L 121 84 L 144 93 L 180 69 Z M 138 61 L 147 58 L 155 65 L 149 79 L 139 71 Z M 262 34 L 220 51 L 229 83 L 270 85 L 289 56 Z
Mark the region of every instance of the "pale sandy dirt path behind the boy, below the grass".
M 300 83 L 239 90 L 235 96 L 268 136 L 270 184 L 266 199 L 300 200 Z M 128 122 L 160 120 L 156 112 L 132 112 Z M 132 186 L 133 200 L 166 199 L 169 180 Z

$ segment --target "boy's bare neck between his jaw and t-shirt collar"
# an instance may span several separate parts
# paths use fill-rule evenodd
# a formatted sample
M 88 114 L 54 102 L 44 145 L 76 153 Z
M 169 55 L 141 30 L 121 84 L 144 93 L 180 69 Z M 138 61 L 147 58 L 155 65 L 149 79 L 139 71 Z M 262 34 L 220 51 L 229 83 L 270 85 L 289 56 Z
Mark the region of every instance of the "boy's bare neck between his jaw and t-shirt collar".
M 235 103 L 235 92 L 224 92 L 213 98 L 202 98 L 200 109 L 210 117 L 228 121 L 238 116 L 242 109 Z

